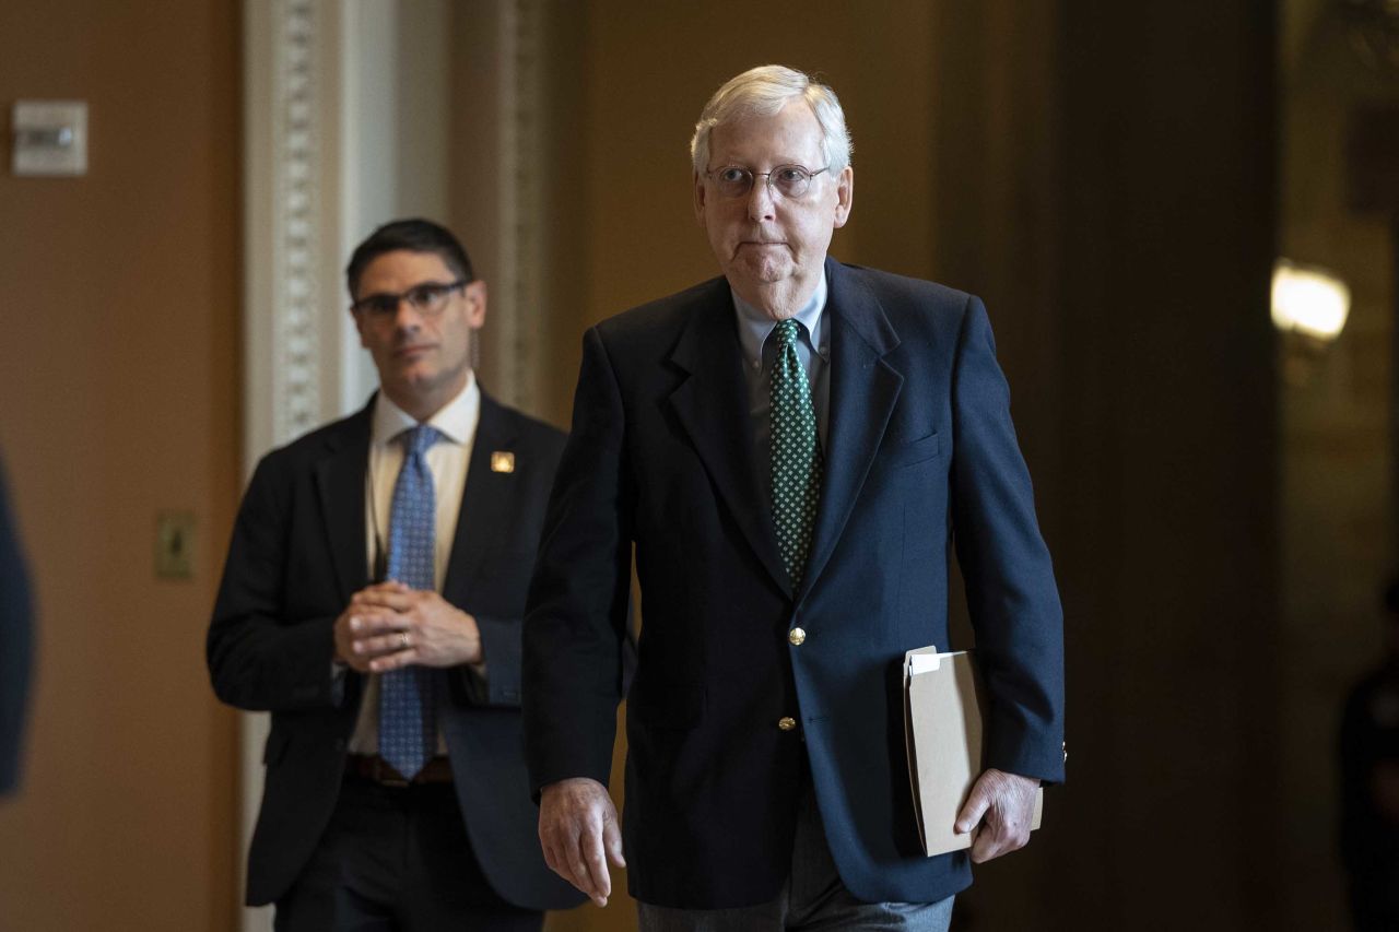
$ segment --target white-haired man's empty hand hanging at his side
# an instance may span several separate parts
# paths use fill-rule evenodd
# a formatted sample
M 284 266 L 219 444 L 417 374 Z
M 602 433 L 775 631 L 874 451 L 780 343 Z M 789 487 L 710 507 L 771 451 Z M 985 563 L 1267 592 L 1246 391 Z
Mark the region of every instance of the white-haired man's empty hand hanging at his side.
M 544 786 L 539 800 L 539 840 L 544 862 L 554 873 L 607 905 L 611 876 L 607 861 L 625 868 L 621 827 L 607 788 L 588 777 Z M 606 852 L 606 858 L 604 858 Z

